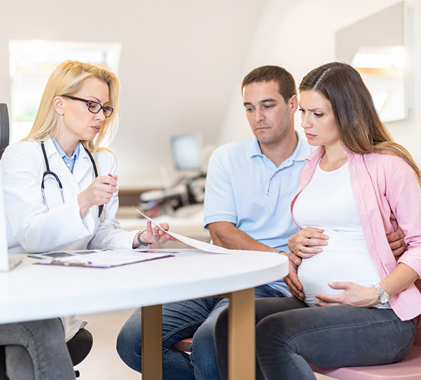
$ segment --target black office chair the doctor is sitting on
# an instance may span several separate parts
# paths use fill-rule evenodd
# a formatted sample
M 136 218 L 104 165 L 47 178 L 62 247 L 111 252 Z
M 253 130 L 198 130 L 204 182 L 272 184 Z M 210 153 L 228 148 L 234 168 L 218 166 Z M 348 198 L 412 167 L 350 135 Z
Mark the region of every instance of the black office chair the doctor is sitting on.
M 0 103 L 0 158 L 9 144 L 9 114 L 8 106 Z M 75 336 L 67 342 L 68 353 L 71 355 L 73 366 L 77 366 L 92 349 L 92 334 L 86 329 L 80 329 Z M 79 377 L 79 371 L 75 371 L 76 377 Z M 0 380 L 8 380 L 5 370 L 5 347 L 0 346 Z

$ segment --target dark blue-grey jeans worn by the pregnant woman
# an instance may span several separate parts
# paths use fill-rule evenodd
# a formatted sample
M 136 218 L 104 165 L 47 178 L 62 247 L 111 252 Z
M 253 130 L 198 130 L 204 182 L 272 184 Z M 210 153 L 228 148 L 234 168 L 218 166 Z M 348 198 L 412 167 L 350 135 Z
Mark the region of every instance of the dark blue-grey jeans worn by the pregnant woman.
M 392 309 L 308 307 L 294 298 L 256 300 L 256 324 L 256 379 L 267 380 L 315 380 L 308 363 L 337 368 L 398 362 L 416 330 L 416 318 L 400 320 Z M 227 331 L 223 312 L 215 328 L 222 379 L 227 379 Z

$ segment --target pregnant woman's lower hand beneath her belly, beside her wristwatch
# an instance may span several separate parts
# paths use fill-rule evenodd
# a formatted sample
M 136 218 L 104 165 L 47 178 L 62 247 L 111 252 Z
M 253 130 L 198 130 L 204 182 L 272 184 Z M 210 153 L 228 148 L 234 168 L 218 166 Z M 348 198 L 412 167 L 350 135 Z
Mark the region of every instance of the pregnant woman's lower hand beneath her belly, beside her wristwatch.
M 316 306 L 350 305 L 357 307 L 372 307 L 379 303 L 379 294 L 373 286 L 361 286 L 353 282 L 329 282 L 332 289 L 344 289 L 340 294 L 316 294 Z

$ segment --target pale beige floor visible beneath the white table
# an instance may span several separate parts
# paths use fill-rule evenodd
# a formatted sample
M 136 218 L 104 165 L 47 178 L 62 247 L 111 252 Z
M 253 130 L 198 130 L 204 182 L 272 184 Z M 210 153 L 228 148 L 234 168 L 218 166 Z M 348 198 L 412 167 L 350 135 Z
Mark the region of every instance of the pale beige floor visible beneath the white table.
M 140 380 L 142 375 L 131 370 L 118 357 L 116 336 L 134 309 L 79 316 L 88 322 L 86 327 L 94 336 L 94 345 L 88 357 L 76 367 L 80 380 Z M 318 380 L 331 377 L 316 375 Z

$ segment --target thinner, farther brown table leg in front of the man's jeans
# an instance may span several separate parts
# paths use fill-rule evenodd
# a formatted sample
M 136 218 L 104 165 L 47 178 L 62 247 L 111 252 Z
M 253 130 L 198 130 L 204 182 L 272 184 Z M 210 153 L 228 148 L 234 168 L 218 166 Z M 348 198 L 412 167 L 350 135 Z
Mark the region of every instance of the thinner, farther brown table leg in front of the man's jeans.
M 142 379 L 162 380 L 162 305 L 142 307 Z

